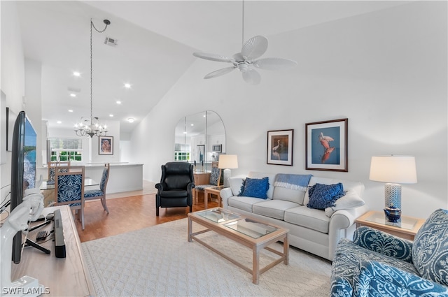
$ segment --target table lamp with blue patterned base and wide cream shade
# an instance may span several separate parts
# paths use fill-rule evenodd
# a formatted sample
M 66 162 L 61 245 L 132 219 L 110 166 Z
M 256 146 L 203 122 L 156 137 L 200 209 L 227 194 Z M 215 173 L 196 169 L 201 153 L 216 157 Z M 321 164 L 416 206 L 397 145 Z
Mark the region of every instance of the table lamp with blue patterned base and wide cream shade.
M 372 157 L 369 179 L 375 182 L 386 182 L 384 186 L 384 205 L 386 209 L 393 207 L 400 210 L 401 184 L 415 184 L 417 182 L 415 157 L 398 155 Z M 391 220 L 391 217 L 388 217 L 388 219 L 389 222 L 394 220 Z

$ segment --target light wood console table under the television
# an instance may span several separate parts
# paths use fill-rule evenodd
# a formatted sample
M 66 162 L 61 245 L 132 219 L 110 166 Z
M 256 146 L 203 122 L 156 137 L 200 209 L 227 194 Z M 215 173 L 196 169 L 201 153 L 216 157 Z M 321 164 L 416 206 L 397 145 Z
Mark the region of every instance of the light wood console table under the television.
M 40 243 L 43 247 L 50 249 L 50 254 L 44 254 L 34 247 L 25 247 L 19 264 L 14 264 L 11 270 L 13 280 L 23 275 L 29 275 L 38 279 L 39 284 L 48 288 L 45 296 L 96 296 L 87 263 L 83 258 L 81 245 L 76 231 L 73 215 L 68 205 L 44 208 L 42 215 L 46 216 L 56 209 L 61 210 L 62 225 L 64 227 L 64 239 L 66 245 L 66 258 L 56 258 L 55 242 L 53 234 L 47 240 Z M 36 222 L 33 224 L 40 224 Z M 50 223 L 40 229 L 28 233 L 30 240 L 36 240 L 36 233 L 41 230 L 50 232 L 54 223 Z M 2 259 L 3 261 L 3 259 Z

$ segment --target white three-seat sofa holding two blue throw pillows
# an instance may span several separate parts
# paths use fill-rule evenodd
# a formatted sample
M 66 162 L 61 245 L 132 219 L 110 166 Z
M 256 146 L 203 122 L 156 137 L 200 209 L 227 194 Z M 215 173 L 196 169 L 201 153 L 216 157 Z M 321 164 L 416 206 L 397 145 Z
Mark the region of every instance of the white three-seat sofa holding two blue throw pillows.
M 267 198 L 238 196 L 245 178 L 230 178 L 230 187 L 221 190 L 223 208 L 289 229 L 289 244 L 332 261 L 341 238 L 352 238 L 357 217 L 367 209 L 363 205 L 364 185 L 361 182 L 311 176 L 305 189 L 290 189 L 275 184 L 276 174 L 251 172 L 248 178 L 269 179 Z M 308 208 L 309 187 L 314 184 L 341 182 L 346 196 L 335 207 L 318 210 Z

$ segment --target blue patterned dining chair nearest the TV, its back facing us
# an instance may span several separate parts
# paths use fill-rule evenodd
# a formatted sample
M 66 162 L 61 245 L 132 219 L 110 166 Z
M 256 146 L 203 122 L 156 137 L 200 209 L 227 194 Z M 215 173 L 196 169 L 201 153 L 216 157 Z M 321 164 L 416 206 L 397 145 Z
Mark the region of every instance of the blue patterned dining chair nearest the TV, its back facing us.
M 76 210 L 84 230 L 84 166 L 60 166 L 55 171 L 55 205 Z

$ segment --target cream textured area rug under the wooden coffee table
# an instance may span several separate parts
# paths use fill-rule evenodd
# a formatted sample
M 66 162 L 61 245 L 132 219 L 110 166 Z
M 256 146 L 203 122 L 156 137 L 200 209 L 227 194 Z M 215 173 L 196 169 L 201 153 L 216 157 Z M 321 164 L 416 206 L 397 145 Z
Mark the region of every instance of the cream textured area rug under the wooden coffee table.
M 97 296 L 328 296 L 330 261 L 290 248 L 290 261 L 252 275 L 204 247 L 188 242 L 187 219 L 82 243 Z M 193 223 L 193 230 L 202 229 Z M 214 232 L 202 240 L 251 267 L 248 247 Z M 281 243 L 271 245 L 279 251 Z M 276 257 L 264 250 L 260 267 Z

